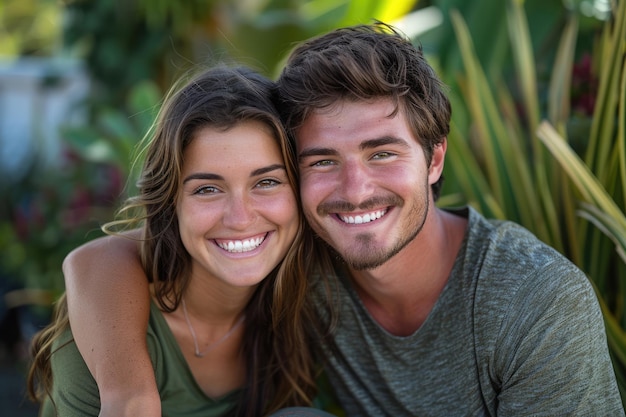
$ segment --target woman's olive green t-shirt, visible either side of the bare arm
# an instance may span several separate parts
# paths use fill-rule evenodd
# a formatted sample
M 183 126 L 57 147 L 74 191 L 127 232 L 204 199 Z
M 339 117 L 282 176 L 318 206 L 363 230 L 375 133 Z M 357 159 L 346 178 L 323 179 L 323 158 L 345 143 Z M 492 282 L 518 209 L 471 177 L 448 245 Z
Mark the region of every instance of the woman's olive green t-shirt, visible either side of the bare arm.
M 147 343 L 163 416 L 215 417 L 227 413 L 236 404 L 239 391 L 220 398 L 205 395 L 196 383 L 163 314 L 154 303 L 150 309 Z M 100 412 L 98 386 L 69 329 L 55 342 L 54 350 L 51 394 L 57 413 L 48 397 L 42 405 L 41 417 L 97 417 Z

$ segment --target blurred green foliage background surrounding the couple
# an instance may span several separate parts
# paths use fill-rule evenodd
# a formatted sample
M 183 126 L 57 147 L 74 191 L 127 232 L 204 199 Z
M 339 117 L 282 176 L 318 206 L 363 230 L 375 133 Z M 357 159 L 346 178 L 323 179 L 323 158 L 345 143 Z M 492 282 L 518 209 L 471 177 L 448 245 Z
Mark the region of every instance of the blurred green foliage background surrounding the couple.
M 177 76 L 236 60 L 275 78 L 298 41 L 376 18 L 449 86 L 440 205 L 514 220 L 588 274 L 624 394 L 625 15 L 623 0 L 5 0 L 3 65 L 69 59 L 90 88 L 59 129 L 61 160 L 35 148 L 20 175 L 0 172 L 0 307 L 45 322 L 64 256 L 133 192 L 134 146 Z

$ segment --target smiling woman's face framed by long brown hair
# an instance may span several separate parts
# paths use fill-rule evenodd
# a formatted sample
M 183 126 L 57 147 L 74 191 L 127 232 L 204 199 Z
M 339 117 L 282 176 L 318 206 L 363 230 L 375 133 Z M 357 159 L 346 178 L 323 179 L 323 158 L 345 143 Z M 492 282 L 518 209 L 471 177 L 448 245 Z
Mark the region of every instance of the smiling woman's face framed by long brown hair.
M 298 208 L 270 129 L 200 129 L 183 153 L 176 212 L 193 279 L 258 284 L 285 257 Z

